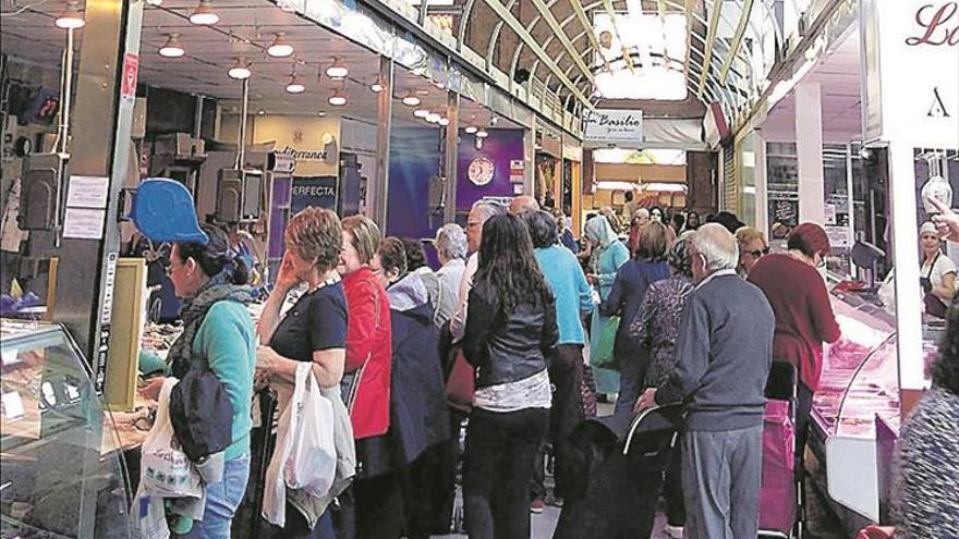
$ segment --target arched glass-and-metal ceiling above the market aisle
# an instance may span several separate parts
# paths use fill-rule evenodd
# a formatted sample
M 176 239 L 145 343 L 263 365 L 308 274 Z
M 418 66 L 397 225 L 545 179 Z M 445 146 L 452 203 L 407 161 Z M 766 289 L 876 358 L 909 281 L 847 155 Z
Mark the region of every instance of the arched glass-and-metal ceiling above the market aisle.
M 718 101 L 735 115 L 761 89 L 782 42 L 770 0 L 457 0 L 453 10 L 441 0 L 422 1 L 427 13 L 454 14 L 460 50 L 471 49 L 487 69 L 514 81 L 532 75 L 530 84 L 571 112 L 607 97 L 597 77 L 653 64 L 681 72 L 689 96 Z M 657 45 L 656 36 L 640 34 L 648 26 L 633 24 L 658 17 L 665 28 L 678 16 L 687 33 L 680 54 L 664 53 L 665 38 Z M 614 36 L 595 29 L 599 20 L 611 24 Z M 620 42 L 641 45 L 612 52 Z

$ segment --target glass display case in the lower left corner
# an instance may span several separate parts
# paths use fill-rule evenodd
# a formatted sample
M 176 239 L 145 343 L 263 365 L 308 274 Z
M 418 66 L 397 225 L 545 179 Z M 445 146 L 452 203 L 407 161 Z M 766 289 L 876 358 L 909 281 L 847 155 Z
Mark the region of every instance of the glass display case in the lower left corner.
M 0 322 L 0 537 L 131 537 L 119 436 L 60 327 Z

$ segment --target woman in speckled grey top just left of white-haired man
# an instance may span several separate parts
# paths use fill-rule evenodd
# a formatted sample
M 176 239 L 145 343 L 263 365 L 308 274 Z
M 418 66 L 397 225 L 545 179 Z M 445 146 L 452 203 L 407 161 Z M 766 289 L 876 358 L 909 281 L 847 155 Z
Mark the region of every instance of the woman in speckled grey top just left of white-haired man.
M 667 255 L 671 277 L 656 281 L 646 290 L 639 316 L 630 327 L 630 336 L 640 346 L 650 348 L 650 367 L 646 369 L 646 388 L 665 384 L 676 368 L 676 339 L 682 309 L 694 290 L 692 261 L 685 233 L 672 245 Z M 682 458 L 679 446 L 666 470 L 666 535 L 679 539 L 685 523 L 682 500 Z

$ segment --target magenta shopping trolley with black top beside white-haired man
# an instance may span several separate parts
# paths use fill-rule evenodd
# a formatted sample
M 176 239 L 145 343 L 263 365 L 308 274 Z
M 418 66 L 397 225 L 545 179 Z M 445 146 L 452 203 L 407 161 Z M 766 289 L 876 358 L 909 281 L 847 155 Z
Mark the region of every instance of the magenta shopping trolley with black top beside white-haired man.
M 796 469 L 797 383 L 792 364 L 773 362 L 763 413 L 760 537 L 801 539 L 805 529 L 804 478 Z

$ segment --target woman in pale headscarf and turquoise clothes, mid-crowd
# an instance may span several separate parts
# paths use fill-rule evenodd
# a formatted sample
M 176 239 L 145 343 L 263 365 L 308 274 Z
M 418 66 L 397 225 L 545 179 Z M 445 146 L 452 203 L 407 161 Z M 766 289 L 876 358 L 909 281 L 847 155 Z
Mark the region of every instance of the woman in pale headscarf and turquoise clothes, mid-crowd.
M 612 291 L 616 273 L 630 259 L 629 248 L 616 237 L 616 232 L 603 216 L 594 217 L 586 222 L 585 236 L 592 244 L 594 253 L 586 280 L 598 289 L 599 299 L 606 301 L 609 297 L 609 292 Z M 590 347 L 592 350 L 596 348 L 600 335 L 609 323 L 609 317 L 603 316 L 598 309 L 593 311 L 590 331 Z M 619 373 L 617 371 L 596 367 L 594 364 L 593 372 L 597 393 L 612 394 L 619 391 Z

